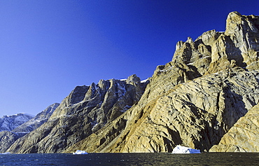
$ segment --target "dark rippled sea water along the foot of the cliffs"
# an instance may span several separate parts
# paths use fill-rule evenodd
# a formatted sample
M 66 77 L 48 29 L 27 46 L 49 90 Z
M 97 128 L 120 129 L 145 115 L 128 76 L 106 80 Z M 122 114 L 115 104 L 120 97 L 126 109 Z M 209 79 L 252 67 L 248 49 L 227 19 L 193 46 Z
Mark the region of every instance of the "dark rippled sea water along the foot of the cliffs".
M 0 165 L 259 165 L 259 153 L 6 154 Z

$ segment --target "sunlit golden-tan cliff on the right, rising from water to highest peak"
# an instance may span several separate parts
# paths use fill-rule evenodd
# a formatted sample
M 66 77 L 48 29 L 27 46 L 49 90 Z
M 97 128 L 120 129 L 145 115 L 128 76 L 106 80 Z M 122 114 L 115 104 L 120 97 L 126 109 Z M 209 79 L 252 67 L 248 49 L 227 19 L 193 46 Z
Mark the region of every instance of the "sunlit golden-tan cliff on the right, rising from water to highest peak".
M 157 67 L 138 104 L 64 152 L 171 152 L 178 144 L 258 151 L 255 141 L 246 141 L 258 139 L 259 120 L 251 116 L 258 115 L 258 28 L 258 16 L 232 12 L 225 32 L 179 41 L 172 62 Z M 230 137 L 237 140 L 226 141 Z

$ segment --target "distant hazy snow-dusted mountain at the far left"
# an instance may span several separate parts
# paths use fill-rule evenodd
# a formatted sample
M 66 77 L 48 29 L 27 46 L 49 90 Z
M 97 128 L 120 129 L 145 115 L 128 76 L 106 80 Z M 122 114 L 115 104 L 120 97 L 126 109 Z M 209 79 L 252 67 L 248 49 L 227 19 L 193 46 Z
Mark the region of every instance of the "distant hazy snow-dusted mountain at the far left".
M 18 113 L 12 116 L 3 116 L 0 118 L 0 131 L 11 131 L 16 127 L 22 125 L 22 123 L 27 122 L 34 116 L 27 113 Z

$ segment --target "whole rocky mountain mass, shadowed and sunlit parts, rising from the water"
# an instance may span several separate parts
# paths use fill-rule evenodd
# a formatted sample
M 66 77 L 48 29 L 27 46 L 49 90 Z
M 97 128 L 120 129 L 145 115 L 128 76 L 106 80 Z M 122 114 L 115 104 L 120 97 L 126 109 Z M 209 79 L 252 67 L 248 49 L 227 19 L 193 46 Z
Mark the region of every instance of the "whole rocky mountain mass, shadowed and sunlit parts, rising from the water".
M 179 41 L 147 82 L 135 75 L 78 86 L 11 153 L 258 151 L 259 16 Z

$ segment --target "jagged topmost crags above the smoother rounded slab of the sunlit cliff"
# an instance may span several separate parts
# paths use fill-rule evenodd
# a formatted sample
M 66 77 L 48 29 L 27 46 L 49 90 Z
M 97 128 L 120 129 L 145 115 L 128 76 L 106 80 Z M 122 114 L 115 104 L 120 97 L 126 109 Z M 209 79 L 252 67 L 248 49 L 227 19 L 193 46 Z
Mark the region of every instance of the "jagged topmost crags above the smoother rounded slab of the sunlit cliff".
M 193 78 L 232 67 L 258 69 L 258 28 L 258 16 L 232 12 L 226 20 L 225 32 L 210 30 L 195 41 L 190 37 L 186 42 L 179 41 L 171 66 L 190 71 Z

